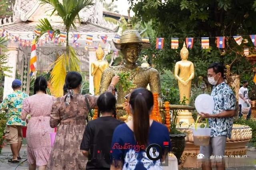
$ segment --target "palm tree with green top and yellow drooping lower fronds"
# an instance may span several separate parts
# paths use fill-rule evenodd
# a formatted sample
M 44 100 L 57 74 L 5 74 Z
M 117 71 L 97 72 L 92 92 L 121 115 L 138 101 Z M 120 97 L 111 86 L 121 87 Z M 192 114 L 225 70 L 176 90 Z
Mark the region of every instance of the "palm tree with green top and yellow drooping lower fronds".
M 54 68 L 50 75 L 50 82 L 56 97 L 63 95 L 63 85 L 67 71 L 79 71 L 80 60 L 76 56 L 75 50 L 68 43 L 68 35 L 71 28 L 76 29 L 76 23 L 80 23 L 79 12 L 88 6 L 93 5 L 93 0 L 39 0 L 41 4 L 52 6 L 51 16 L 57 12 L 62 18 L 66 31 L 66 51 L 54 62 Z M 60 34 L 60 30 L 53 29 L 47 18 L 40 20 L 36 28 L 41 30 L 37 40 L 47 31 L 54 31 L 54 36 Z

